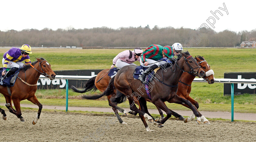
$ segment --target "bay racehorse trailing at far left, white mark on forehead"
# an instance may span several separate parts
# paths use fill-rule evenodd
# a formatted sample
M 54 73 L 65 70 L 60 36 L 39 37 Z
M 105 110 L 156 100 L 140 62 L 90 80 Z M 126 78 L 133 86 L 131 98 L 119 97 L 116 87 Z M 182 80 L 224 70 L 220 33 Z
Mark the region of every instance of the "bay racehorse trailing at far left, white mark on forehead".
M 20 121 L 25 121 L 21 116 L 20 101 L 27 99 L 39 107 L 37 115 L 32 122 L 33 125 L 37 123 L 42 110 L 42 104 L 35 96 L 39 76 L 42 74 L 51 80 L 56 76 L 52 71 L 51 65 L 44 58 L 36 59 L 37 61 L 31 63 L 32 65 L 24 65 L 20 70 L 14 86 L 10 87 L 11 95 L 9 95 L 7 87 L 0 85 L 0 93 L 4 95 L 6 100 L 5 106 L 9 109 L 9 112 L 20 118 Z M 12 102 L 16 110 L 12 108 Z

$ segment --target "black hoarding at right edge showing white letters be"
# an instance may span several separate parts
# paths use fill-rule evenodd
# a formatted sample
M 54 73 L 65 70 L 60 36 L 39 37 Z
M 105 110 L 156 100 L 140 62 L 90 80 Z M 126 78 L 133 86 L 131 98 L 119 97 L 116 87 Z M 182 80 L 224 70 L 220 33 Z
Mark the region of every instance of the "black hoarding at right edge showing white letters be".
M 256 72 L 226 72 L 224 78 L 256 79 Z M 234 95 L 256 94 L 256 84 L 234 83 Z M 231 85 L 224 83 L 224 95 L 231 95 Z

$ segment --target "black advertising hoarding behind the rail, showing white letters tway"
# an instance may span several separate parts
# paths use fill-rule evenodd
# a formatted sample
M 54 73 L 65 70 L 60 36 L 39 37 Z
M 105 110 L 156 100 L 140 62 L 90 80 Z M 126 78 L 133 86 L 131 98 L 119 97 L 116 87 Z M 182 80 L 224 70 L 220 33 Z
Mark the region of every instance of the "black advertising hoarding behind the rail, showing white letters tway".
M 65 71 L 54 71 L 56 75 L 77 75 L 77 76 L 94 76 L 97 75 L 103 69 L 98 70 L 65 70 Z M 85 83 L 87 80 L 68 80 L 69 88 L 73 85 L 76 88 L 85 88 Z M 39 79 L 37 81 L 38 89 L 66 89 L 65 79 Z

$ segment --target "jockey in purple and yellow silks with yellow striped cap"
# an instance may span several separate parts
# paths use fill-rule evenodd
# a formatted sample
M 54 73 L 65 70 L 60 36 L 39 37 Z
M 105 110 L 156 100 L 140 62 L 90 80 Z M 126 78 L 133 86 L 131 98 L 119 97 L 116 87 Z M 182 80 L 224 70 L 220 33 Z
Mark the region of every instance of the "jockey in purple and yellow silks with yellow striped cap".
M 14 74 L 19 68 L 23 67 L 22 61 L 25 61 L 25 64 L 31 63 L 29 59 L 29 54 L 31 54 L 31 47 L 28 44 L 22 45 L 21 48 L 12 47 L 10 50 L 5 52 L 3 55 L 3 72 L 2 75 L 5 75 L 4 78 L 9 77 Z M 6 68 L 10 70 L 5 74 Z

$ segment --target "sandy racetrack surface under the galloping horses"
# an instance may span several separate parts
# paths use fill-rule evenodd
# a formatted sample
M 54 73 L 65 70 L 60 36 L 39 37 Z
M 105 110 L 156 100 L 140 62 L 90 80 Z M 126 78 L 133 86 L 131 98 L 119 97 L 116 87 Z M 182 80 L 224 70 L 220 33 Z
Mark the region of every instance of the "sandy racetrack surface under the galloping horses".
M 169 119 L 158 128 L 148 123 L 154 132 L 147 132 L 142 121 L 122 117 L 128 125 L 109 114 L 79 114 L 43 112 L 36 125 L 37 112 L 23 111 L 25 122 L 5 111 L 7 120 L 0 120 L 0 141 L 256 141 L 256 123 L 210 121 L 198 125 L 195 121 Z M 115 122 L 116 121 L 116 122 Z

